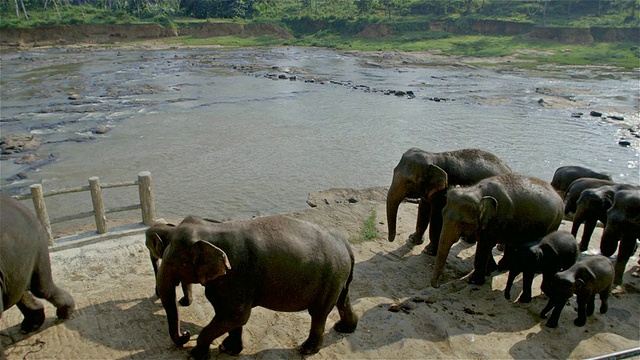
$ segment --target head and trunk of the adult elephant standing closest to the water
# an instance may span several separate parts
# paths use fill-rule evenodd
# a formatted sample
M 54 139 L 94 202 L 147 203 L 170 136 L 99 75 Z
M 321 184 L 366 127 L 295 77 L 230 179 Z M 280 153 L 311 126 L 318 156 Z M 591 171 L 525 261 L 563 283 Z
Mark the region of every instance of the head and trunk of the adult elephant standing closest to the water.
M 393 180 L 387 193 L 387 224 L 389 241 L 396 237 L 398 207 L 405 198 L 429 199 L 448 186 L 448 175 L 432 164 L 428 155 L 408 151 L 393 169 Z

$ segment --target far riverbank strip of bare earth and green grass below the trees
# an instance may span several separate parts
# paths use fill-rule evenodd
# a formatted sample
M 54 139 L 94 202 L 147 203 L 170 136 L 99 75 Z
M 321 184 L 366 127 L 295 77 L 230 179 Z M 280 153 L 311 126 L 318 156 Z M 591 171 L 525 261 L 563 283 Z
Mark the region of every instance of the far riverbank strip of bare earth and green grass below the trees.
M 489 27 L 495 28 L 496 25 Z M 0 46 L 24 50 L 46 45 L 123 44 L 155 40 L 168 46 L 312 46 L 336 50 L 430 52 L 442 56 L 472 57 L 477 59 L 476 65 L 509 64 L 523 68 L 539 64 L 611 66 L 633 72 L 640 68 L 637 42 L 594 42 L 593 30 L 582 30 L 557 28 L 554 31 L 538 29 L 512 35 L 455 35 L 439 28 L 395 31 L 393 27 L 377 24 L 355 35 L 320 32 L 295 37 L 272 23 L 205 21 L 180 29 L 157 24 L 4 28 L 0 29 Z M 633 29 L 626 31 L 633 33 Z M 598 36 L 602 33 L 600 30 Z M 563 42 L 548 38 L 562 39 Z M 495 58 L 502 58 L 503 62 L 496 62 Z

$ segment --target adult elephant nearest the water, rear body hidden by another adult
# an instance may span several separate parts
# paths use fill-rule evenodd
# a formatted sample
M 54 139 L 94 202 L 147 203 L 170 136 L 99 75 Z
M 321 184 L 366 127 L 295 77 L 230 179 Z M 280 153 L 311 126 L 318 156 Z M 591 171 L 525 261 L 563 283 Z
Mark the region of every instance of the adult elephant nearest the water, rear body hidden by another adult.
M 469 186 L 478 181 L 505 173 L 509 166 L 496 155 L 479 149 L 461 149 L 432 153 L 418 148 L 407 150 L 393 169 L 393 181 L 387 194 L 387 225 L 389 241 L 396 237 L 398 207 L 405 198 L 420 198 L 416 231 L 409 236 L 414 244 L 423 243 L 429 227 L 430 243 L 426 253 L 435 255 L 442 228 L 442 209 L 446 203 L 447 186 Z M 439 174 L 447 176 L 446 184 Z

